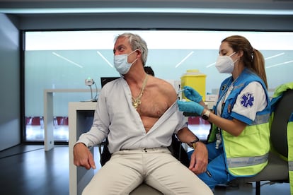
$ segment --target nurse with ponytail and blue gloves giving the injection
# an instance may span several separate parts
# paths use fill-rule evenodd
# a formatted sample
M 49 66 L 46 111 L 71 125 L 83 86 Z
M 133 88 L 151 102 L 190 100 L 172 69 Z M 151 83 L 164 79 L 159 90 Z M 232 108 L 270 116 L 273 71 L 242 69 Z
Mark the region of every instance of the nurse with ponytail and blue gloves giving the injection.
M 197 175 L 211 189 L 236 177 L 251 177 L 268 164 L 270 149 L 270 99 L 263 54 L 242 36 L 222 40 L 216 62 L 219 73 L 228 73 L 211 112 L 196 90 L 185 87 L 178 100 L 183 112 L 194 112 L 212 124 L 207 140 L 207 171 Z

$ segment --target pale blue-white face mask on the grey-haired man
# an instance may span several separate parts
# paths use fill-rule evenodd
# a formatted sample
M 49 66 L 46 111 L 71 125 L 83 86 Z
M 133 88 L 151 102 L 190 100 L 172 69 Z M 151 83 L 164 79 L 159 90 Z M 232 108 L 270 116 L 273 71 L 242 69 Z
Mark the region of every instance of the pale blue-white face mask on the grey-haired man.
M 137 51 L 137 49 L 135 49 L 133 52 L 135 51 Z M 132 63 L 128 63 L 128 56 L 130 56 L 133 52 L 130 52 L 130 54 L 120 54 L 114 56 L 114 66 L 118 73 L 125 74 L 130 71 L 132 64 L 137 61 L 137 59 L 135 59 Z

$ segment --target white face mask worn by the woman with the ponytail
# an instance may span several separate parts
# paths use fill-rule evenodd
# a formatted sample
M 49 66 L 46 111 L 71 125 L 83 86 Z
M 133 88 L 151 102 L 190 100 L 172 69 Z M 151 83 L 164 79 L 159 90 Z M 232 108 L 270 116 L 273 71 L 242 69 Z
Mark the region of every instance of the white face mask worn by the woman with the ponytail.
M 218 69 L 219 73 L 232 73 L 232 71 L 234 70 L 234 63 L 238 60 L 236 59 L 236 61 L 233 61 L 233 59 L 231 59 L 231 56 L 233 56 L 234 54 L 236 54 L 236 52 L 229 56 L 218 57 L 215 66 Z

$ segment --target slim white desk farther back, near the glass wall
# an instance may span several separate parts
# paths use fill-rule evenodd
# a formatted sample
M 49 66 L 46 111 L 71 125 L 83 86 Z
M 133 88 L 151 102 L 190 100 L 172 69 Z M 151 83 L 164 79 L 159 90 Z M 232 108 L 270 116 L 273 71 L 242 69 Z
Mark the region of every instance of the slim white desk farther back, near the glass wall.
M 90 89 L 45 89 L 44 90 L 44 145 L 45 151 L 54 148 L 53 93 L 91 93 Z

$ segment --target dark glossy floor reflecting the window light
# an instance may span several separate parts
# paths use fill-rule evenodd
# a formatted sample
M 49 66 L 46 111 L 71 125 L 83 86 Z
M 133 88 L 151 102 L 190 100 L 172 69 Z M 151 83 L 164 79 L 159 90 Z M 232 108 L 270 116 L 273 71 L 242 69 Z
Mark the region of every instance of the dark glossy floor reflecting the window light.
M 95 148 L 98 153 L 98 148 Z M 96 164 L 99 159 L 96 155 Z M 71 163 L 71 162 L 70 162 Z M 68 195 L 69 148 L 55 146 L 45 152 L 44 146 L 16 146 L 0 152 L 1 195 Z M 289 195 L 289 184 L 262 183 L 261 194 Z M 255 186 L 217 187 L 214 194 L 255 194 Z

